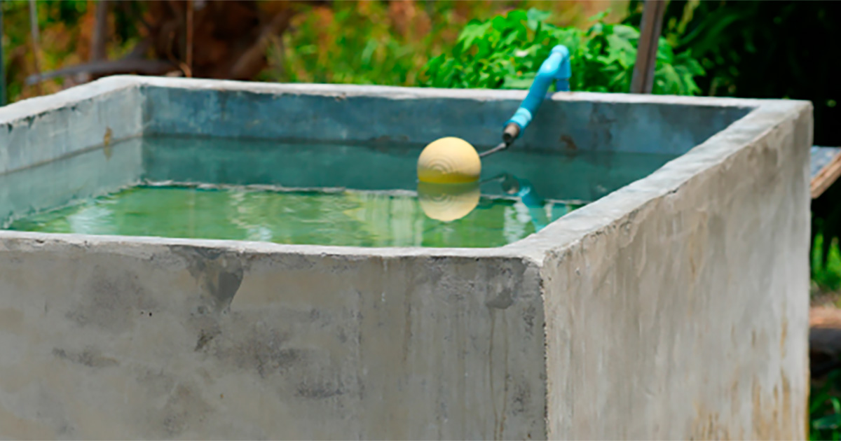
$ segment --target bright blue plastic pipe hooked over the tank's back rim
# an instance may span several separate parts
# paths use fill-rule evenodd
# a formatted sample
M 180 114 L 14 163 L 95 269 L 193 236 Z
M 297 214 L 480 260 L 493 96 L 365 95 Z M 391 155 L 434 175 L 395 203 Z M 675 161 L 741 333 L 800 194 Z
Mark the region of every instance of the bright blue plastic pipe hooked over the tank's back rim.
M 564 45 L 557 45 L 552 48 L 549 57 L 543 61 L 540 70 L 537 71 L 537 76 L 532 82 L 532 87 L 529 87 L 526 99 L 520 104 L 514 116 L 511 117 L 505 125 L 509 123 L 516 123 L 520 128 L 520 132 L 528 127 L 532 122 L 534 113 L 537 108 L 546 98 L 549 91 L 549 86 L 557 81 L 555 88 L 558 91 L 569 91 L 569 77 L 572 76 L 572 68 L 569 66 L 569 49 Z

